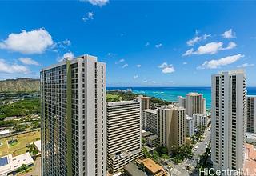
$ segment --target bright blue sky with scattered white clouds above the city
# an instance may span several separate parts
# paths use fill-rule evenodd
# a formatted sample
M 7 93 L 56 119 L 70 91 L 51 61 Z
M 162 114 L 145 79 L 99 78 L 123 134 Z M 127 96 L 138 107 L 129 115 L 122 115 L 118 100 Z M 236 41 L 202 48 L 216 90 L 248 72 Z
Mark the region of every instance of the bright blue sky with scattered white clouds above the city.
M 107 64 L 107 86 L 210 86 L 246 70 L 256 86 L 256 2 L 0 2 L 0 79 L 38 78 L 64 57 Z

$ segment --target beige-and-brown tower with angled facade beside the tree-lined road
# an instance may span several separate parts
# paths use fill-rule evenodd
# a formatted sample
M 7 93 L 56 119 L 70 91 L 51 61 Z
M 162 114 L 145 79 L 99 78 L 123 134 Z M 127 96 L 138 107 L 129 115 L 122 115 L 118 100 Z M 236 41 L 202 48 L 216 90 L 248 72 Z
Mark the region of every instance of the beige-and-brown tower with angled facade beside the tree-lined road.
M 185 143 L 185 109 L 180 106 L 162 106 L 158 109 L 158 138 L 161 146 L 171 150 Z

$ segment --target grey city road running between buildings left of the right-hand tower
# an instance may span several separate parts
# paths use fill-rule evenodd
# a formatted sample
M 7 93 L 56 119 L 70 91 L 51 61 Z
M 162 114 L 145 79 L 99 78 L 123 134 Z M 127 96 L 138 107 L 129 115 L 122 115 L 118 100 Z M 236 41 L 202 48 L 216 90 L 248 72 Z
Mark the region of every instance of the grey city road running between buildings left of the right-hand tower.
M 194 146 L 198 146 L 198 149 L 194 149 L 194 158 L 187 159 L 183 161 L 182 163 L 175 165 L 173 162 L 167 161 L 168 165 L 173 167 L 173 170 L 169 170 L 170 175 L 178 176 L 186 176 L 191 175 L 195 167 L 197 166 L 198 159 L 200 158 L 200 155 L 206 152 L 206 146 L 210 142 L 210 131 L 206 130 L 204 135 L 206 138 L 202 142 L 198 142 Z M 186 167 L 190 166 L 191 170 L 187 170 Z

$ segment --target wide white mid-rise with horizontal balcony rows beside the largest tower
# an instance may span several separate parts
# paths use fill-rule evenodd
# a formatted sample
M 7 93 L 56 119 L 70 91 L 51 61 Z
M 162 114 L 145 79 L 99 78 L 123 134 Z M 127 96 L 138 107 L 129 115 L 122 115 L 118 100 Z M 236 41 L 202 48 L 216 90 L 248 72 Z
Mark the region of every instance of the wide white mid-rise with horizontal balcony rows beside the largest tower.
M 107 169 L 116 173 L 141 156 L 141 102 L 108 102 L 106 106 Z

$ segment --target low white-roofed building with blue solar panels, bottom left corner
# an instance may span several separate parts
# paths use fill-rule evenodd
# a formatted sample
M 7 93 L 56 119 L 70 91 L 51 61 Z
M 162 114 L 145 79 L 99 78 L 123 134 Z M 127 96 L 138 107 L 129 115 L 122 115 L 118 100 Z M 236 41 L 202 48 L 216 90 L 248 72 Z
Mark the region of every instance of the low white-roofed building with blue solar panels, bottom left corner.
M 20 154 L 13 157 L 11 154 L 0 158 L 0 175 L 7 176 L 8 174 L 16 171 L 18 167 L 23 164 L 26 166 L 32 166 L 34 164 L 33 158 L 30 153 Z

